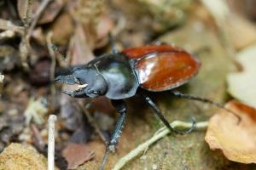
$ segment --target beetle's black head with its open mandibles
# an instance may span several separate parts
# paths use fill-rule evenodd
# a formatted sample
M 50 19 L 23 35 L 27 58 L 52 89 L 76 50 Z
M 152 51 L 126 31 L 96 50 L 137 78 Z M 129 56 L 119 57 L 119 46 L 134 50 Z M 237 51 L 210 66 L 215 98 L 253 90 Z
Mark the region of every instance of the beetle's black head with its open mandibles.
M 75 66 L 72 73 L 66 76 L 58 76 L 56 82 L 62 82 L 69 85 L 76 85 L 74 91 L 63 91 L 74 98 L 96 98 L 102 96 L 108 91 L 108 83 L 95 68 L 85 66 Z

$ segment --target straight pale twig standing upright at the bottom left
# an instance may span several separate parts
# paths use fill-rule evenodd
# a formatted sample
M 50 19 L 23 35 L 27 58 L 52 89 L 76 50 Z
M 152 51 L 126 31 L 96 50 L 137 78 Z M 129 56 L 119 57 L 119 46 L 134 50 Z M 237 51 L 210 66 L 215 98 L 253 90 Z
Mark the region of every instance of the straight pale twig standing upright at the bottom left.
M 55 121 L 57 116 L 50 115 L 48 120 L 48 170 L 55 169 Z

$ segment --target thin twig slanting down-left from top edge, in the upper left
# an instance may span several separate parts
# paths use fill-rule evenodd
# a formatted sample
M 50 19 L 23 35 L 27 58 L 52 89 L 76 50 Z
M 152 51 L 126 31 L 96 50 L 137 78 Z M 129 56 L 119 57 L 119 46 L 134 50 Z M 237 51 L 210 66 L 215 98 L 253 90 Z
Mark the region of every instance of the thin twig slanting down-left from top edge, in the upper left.
M 43 14 L 44 12 L 44 9 L 48 6 L 48 4 L 51 2 L 52 0 L 44 0 L 40 7 L 38 8 L 36 14 L 34 15 L 33 19 L 32 19 L 32 24 L 29 28 L 29 31 L 28 31 L 28 34 L 27 36 L 28 37 L 31 37 L 32 35 L 32 31 L 35 29 L 37 23 L 38 23 L 38 20 L 40 19 L 40 16 Z

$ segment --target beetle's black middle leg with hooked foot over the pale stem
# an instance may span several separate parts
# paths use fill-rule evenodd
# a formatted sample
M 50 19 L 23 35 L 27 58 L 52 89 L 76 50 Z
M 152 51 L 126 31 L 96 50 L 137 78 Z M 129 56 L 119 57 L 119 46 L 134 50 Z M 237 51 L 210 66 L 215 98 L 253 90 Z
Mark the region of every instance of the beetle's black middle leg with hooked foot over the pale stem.
M 183 134 L 191 133 L 195 129 L 195 118 L 194 117 L 192 117 L 192 127 L 190 127 L 188 130 L 179 131 L 179 130 L 173 128 L 170 125 L 170 123 L 166 120 L 165 116 L 163 116 L 159 107 L 154 104 L 154 101 L 152 99 L 150 99 L 148 96 L 146 96 L 145 94 L 143 94 L 142 97 L 148 103 L 148 105 L 151 106 L 151 108 L 154 110 L 154 113 L 160 118 L 161 122 L 163 122 L 166 125 L 166 127 L 168 127 L 172 131 L 172 133 L 177 133 L 177 134 L 183 135 Z

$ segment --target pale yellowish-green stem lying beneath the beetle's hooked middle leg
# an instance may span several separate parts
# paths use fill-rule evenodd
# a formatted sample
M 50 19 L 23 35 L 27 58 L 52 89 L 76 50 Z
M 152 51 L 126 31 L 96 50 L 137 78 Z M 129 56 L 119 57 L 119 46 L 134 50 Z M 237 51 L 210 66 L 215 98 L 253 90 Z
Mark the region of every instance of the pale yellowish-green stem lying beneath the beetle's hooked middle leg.
M 175 121 L 171 123 L 172 127 L 183 127 L 183 128 L 190 128 L 192 126 L 191 122 L 179 122 L 179 121 Z M 197 122 L 196 123 L 196 129 L 206 129 L 208 126 L 208 122 Z M 122 157 L 121 159 L 119 159 L 119 161 L 114 165 L 113 170 L 119 170 L 122 167 L 125 166 L 125 164 L 128 161 L 131 161 L 133 158 L 135 158 L 136 156 L 142 154 L 144 152 L 144 150 L 148 149 L 148 146 L 151 144 L 154 144 L 154 142 L 156 142 L 157 140 L 165 137 L 168 133 L 171 133 L 171 131 L 166 128 L 166 127 L 161 127 L 157 133 L 154 134 L 154 136 L 151 139 L 148 139 L 146 142 L 144 142 L 143 144 L 140 144 L 137 146 L 137 148 L 135 150 L 131 150 L 131 152 L 129 154 L 127 154 L 126 156 Z

